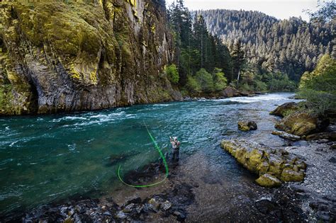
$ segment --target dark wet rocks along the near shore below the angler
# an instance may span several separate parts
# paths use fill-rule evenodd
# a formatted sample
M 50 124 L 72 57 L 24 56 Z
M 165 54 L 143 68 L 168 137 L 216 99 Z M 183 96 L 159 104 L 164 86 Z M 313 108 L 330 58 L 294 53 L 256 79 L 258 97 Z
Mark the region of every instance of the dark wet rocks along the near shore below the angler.
M 169 167 L 174 169 L 174 165 Z M 125 178 L 128 183 L 145 184 L 155 178 L 163 178 L 162 173 L 164 166 L 154 163 L 128 173 Z M 174 178 L 172 174 L 174 172 L 167 182 Z M 152 191 L 148 197 L 126 198 L 122 203 L 117 203 L 113 197 L 92 199 L 79 196 L 43 205 L 23 215 L 13 213 L 4 222 L 152 222 L 159 219 L 184 222 L 188 215 L 186 207 L 195 200 L 193 186 L 188 183 L 171 185 L 172 187 L 160 191 L 161 193 L 158 190 Z

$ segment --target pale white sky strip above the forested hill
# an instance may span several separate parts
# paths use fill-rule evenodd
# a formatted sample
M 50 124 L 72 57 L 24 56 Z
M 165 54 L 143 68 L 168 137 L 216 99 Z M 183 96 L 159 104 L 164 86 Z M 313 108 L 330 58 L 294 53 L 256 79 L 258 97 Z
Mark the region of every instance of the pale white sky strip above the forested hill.
M 176 0 L 166 0 L 167 5 Z M 304 9 L 316 10 L 317 0 L 184 0 L 184 4 L 190 10 L 198 9 L 235 9 L 262 11 L 276 18 L 289 18 L 301 16 L 308 21 Z

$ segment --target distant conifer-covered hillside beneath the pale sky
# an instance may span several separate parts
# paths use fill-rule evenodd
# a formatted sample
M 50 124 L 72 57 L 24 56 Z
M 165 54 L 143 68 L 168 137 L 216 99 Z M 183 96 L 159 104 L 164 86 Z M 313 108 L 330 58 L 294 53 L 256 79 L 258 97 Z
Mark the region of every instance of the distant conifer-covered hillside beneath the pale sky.
M 259 74 L 265 69 L 298 81 L 324 54 L 336 55 L 335 21 L 278 20 L 257 11 L 225 9 L 197 11 L 196 15 L 203 16 L 209 32 L 218 35 L 229 49 L 240 40 L 247 62 Z

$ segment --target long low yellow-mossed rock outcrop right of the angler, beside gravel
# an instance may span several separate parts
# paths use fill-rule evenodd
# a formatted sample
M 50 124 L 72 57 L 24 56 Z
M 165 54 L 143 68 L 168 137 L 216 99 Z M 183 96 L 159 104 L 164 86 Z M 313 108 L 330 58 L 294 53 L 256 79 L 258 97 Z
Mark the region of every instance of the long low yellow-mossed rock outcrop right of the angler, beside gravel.
M 246 140 L 223 140 L 221 147 L 228 151 L 245 168 L 257 173 L 257 183 L 263 187 L 276 187 L 281 181 L 303 181 L 306 164 L 281 149 Z

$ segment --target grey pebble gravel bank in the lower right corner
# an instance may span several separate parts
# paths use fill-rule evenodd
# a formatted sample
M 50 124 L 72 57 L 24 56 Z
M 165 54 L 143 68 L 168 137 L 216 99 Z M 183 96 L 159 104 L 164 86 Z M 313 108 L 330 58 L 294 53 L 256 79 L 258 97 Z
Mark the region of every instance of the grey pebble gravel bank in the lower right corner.
M 306 177 L 301 184 L 291 188 L 303 200 L 303 210 L 310 213 L 312 221 L 335 222 L 336 220 L 336 150 L 332 142 L 298 142 L 285 147 L 291 154 L 306 160 Z

